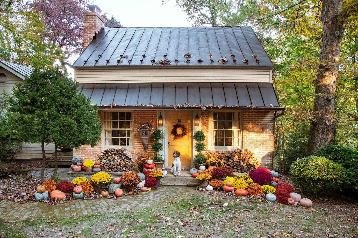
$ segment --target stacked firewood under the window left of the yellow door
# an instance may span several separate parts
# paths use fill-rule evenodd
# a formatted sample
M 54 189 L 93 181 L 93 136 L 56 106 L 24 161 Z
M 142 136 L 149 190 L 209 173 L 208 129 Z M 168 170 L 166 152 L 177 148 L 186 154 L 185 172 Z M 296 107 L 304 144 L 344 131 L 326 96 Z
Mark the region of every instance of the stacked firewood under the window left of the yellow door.
M 125 172 L 135 169 L 133 155 L 124 147 L 108 148 L 97 155 L 104 172 Z

